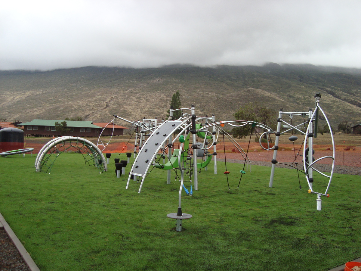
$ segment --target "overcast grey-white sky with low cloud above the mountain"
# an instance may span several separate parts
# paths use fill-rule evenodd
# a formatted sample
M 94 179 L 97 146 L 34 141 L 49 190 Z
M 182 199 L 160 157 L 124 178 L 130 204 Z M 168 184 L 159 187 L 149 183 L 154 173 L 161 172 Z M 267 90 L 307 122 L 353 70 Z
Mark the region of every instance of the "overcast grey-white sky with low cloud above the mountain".
M 2 1 L 0 69 L 310 63 L 361 68 L 359 0 Z

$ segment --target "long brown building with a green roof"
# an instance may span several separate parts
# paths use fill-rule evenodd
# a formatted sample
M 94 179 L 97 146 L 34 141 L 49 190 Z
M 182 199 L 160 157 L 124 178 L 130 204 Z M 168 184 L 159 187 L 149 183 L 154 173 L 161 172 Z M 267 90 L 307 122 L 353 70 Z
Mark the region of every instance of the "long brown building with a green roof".
M 94 125 L 92 121 L 66 120 L 65 122 L 69 132 L 60 135 L 55 130 L 55 122 L 61 123 L 63 121 L 65 120 L 32 120 L 30 122 L 20 123 L 19 125 L 24 126 L 24 134 L 27 136 L 40 137 L 99 137 L 101 130 L 103 130 L 100 126 Z

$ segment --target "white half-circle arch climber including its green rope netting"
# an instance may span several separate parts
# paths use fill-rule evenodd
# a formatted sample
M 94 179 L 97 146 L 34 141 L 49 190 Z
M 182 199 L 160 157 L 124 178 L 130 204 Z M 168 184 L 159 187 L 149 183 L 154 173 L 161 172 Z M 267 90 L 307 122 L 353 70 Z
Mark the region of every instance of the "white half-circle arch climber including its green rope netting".
M 35 159 L 36 171 L 45 173 L 51 171 L 56 158 L 71 149 L 78 150 L 83 155 L 85 164 L 96 166 L 100 173 L 108 171 L 106 159 L 94 143 L 81 137 L 70 136 L 54 138 L 42 147 Z M 43 167 L 46 167 L 45 171 Z

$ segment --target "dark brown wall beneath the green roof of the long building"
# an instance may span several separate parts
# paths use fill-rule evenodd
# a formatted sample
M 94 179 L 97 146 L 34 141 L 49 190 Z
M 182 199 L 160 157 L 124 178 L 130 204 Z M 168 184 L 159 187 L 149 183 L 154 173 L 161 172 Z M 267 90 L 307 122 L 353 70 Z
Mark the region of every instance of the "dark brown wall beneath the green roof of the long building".
M 31 130 L 28 129 L 28 126 L 31 126 Z M 24 134 L 30 136 L 56 136 L 60 137 L 60 134 L 57 134 L 56 131 L 52 131 L 51 128 L 54 126 L 50 126 L 49 130 L 45 130 L 45 127 L 48 126 L 38 126 L 38 130 L 34 130 L 34 125 L 24 125 Z M 72 127 L 68 127 L 72 128 Z M 54 129 L 54 128 L 53 128 Z M 87 128 L 84 128 L 85 132 L 81 132 L 80 127 L 73 127 L 73 132 L 68 132 L 64 136 L 71 137 L 99 137 L 101 132 L 101 128 L 91 128 L 91 132 L 87 132 Z

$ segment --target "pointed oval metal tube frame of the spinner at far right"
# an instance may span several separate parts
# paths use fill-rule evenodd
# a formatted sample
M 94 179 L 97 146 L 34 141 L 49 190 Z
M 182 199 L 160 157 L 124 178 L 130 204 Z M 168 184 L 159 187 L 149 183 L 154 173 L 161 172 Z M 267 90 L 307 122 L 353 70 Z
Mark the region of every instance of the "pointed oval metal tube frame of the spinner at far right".
M 331 180 L 332 180 L 332 175 L 333 175 L 333 172 L 334 172 L 334 168 L 335 168 L 335 141 L 334 141 L 334 137 L 332 135 L 332 130 L 331 130 L 331 125 L 330 125 L 330 122 L 329 120 L 327 119 L 326 115 L 325 115 L 325 112 L 323 112 L 322 108 L 317 105 L 315 110 L 313 111 L 312 113 L 312 116 L 310 117 L 310 120 L 313 120 L 313 117 L 316 115 L 318 109 L 322 112 L 322 115 L 325 117 L 325 120 L 327 122 L 327 125 L 330 129 L 330 134 L 331 134 L 331 141 L 332 141 L 332 156 L 323 156 L 321 158 L 318 158 L 317 160 L 315 160 L 314 162 L 312 163 L 309 163 L 309 164 L 306 164 L 306 142 L 307 142 L 307 138 L 308 138 L 308 133 L 309 131 L 312 129 L 312 121 L 309 122 L 308 126 L 307 126 L 307 129 L 306 129 L 306 135 L 305 135 L 305 140 L 304 140 L 304 145 L 303 145 L 303 167 L 305 169 L 305 176 L 306 176 L 306 180 L 307 180 L 307 184 L 308 184 L 308 187 L 310 189 L 310 193 L 313 193 L 313 194 L 318 194 L 318 195 L 323 195 L 323 196 L 326 196 L 327 197 L 327 191 L 329 190 L 330 188 L 330 185 L 331 185 Z M 311 150 L 310 150 L 311 149 Z M 309 157 L 312 161 L 312 148 L 310 148 L 309 146 Z M 332 159 L 332 168 L 331 168 L 331 173 L 330 175 L 326 175 L 326 174 L 323 174 L 322 172 L 318 171 L 317 169 L 313 168 L 313 165 L 315 163 L 317 163 L 318 161 L 322 160 L 322 159 L 326 159 L 326 158 L 331 158 Z M 321 175 L 325 176 L 325 177 L 328 177 L 329 178 L 329 183 L 327 184 L 327 188 L 326 188 L 326 191 L 325 193 L 319 193 L 319 192 L 315 192 L 313 191 L 313 187 L 309 181 L 309 176 L 308 176 L 308 170 L 314 170 L 314 171 L 317 171 L 318 173 L 320 173 Z

